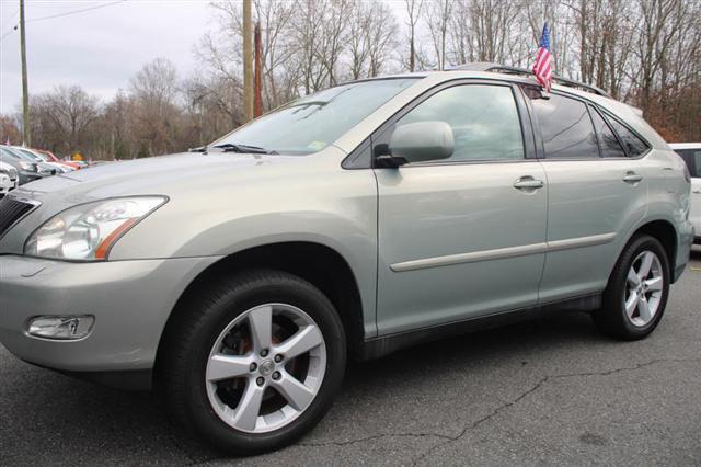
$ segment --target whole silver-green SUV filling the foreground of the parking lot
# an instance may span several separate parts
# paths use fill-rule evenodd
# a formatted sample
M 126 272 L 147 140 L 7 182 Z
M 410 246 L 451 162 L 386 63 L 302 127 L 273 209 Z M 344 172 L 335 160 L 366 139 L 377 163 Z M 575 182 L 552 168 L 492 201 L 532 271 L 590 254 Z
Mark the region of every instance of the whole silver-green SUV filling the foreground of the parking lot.
M 196 153 L 15 190 L 0 341 L 152 388 L 251 454 L 314 426 L 347 358 L 544 310 L 644 338 L 693 239 L 683 162 L 597 89 L 471 68 L 338 86 Z

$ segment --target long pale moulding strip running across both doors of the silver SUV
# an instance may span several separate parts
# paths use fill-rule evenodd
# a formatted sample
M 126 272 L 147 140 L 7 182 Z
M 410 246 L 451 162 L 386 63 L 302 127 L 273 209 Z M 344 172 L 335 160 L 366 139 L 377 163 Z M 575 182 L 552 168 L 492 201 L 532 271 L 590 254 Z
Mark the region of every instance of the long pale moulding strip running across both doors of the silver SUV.
M 550 251 L 570 250 L 573 248 L 593 247 L 613 241 L 616 234 L 601 234 L 589 237 L 568 238 L 545 243 L 531 243 L 518 247 L 497 248 L 494 250 L 474 251 L 471 253 L 448 254 L 446 257 L 424 258 L 390 265 L 394 272 L 417 271 L 429 267 L 449 266 L 452 264 L 476 263 L 480 261 L 503 260 L 506 258 L 526 257 L 528 254 Z

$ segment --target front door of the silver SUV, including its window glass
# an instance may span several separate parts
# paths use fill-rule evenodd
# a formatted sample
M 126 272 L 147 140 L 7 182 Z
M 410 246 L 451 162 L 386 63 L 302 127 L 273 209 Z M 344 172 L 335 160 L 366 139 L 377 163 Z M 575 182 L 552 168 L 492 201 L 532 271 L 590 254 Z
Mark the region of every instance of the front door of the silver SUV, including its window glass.
M 440 121 L 456 141 L 447 160 L 375 169 L 380 334 L 537 304 L 548 187 L 516 92 L 450 84 L 374 135 L 381 148 L 398 125 Z

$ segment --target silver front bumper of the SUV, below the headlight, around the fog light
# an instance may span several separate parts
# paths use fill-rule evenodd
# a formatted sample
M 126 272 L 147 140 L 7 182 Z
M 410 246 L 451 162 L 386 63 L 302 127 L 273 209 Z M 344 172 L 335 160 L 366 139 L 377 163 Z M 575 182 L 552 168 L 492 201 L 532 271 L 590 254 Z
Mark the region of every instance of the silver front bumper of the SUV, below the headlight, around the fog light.
M 165 322 L 183 291 L 219 258 L 69 263 L 0 255 L 0 342 L 18 357 L 62 372 L 153 367 Z M 39 315 L 92 315 L 79 341 L 26 334 Z

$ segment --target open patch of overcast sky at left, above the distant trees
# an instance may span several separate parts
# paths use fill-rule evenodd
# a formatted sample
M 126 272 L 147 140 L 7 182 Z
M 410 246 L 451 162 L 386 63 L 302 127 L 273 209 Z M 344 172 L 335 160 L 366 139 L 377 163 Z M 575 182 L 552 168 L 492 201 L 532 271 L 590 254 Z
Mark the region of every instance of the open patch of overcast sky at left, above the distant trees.
M 127 0 L 62 18 L 42 19 L 114 3 L 115 0 L 26 0 L 30 93 L 80 84 L 110 99 L 157 57 L 182 76 L 196 60 L 193 47 L 209 29 L 208 0 Z M 0 0 L 0 37 L 19 22 L 19 0 Z M 0 42 L 0 113 L 14 113 L 22 95 L 20 33 Z

